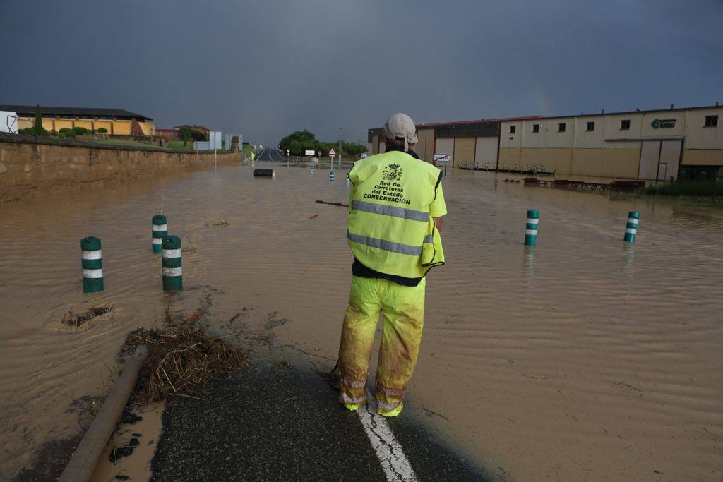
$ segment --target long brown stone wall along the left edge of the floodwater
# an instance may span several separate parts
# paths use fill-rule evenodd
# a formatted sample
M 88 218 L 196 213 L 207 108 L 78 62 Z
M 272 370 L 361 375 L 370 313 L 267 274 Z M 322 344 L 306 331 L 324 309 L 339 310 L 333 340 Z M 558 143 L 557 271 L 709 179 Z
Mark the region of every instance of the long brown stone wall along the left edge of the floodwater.
M 218 165 L 239 164 L 242 158 L 240 152 L 218 154 Z M 54 186 L 126 181 L 155 173 L 212 167 L 213 153 L 0 133 L 0 202 Z

